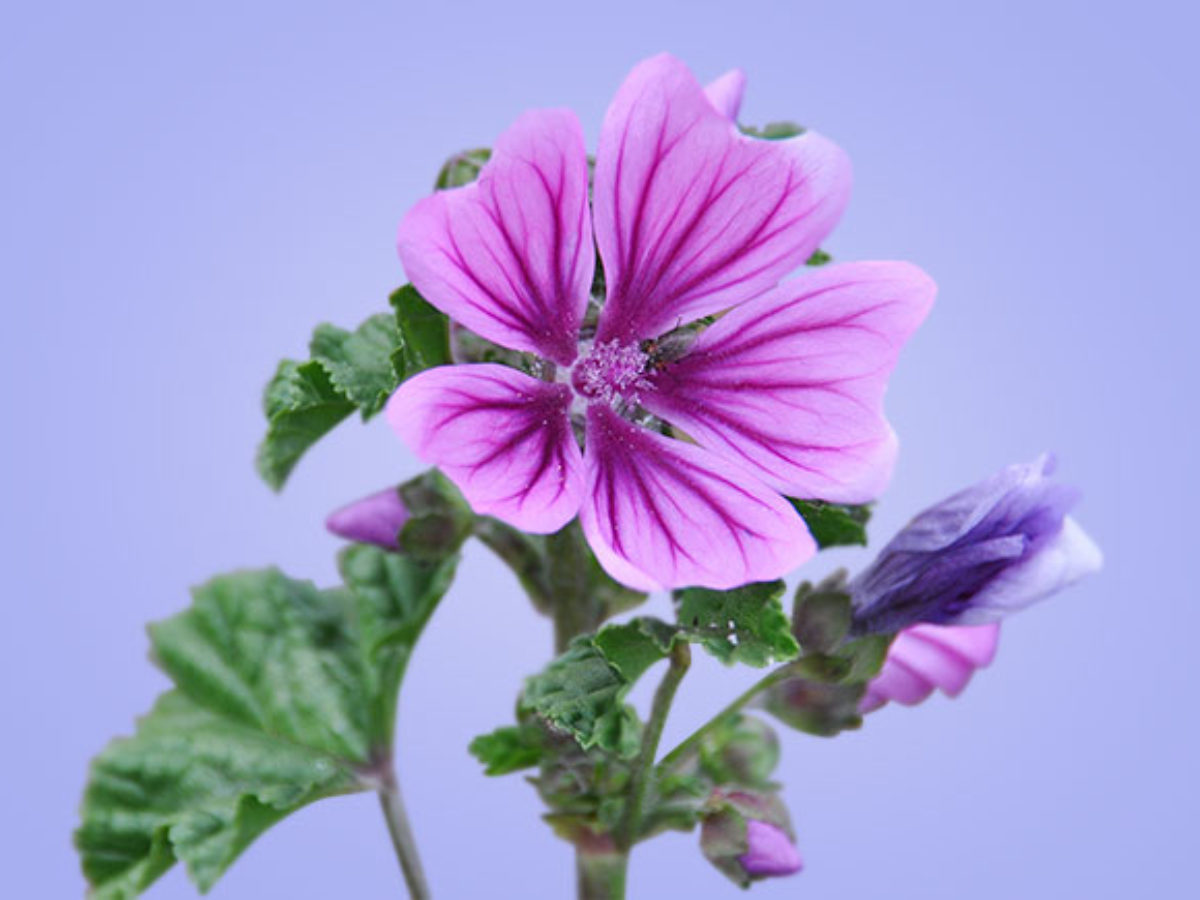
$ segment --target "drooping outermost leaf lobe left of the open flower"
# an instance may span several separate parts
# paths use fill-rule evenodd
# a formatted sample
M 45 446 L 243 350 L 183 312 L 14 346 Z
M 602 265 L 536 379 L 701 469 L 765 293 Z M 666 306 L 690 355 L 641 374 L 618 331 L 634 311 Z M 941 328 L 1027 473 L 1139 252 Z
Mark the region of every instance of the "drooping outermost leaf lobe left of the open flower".
M 258 473 L 276 491 L 300 457 L 354 412 L 314 360 L 283 360 L 263 395 L 266 437 L 258 448 Z

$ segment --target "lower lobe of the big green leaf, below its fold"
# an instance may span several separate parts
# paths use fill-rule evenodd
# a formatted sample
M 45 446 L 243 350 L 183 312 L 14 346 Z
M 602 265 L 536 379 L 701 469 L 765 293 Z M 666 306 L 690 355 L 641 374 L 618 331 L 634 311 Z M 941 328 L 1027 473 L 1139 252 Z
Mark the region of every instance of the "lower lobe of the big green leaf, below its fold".
M 206 890 L 289 812 L 359 790 L 344 762 L 169 691 L 92 763 L 76 845 L 98 900 L 138 895 L 176 859 Z

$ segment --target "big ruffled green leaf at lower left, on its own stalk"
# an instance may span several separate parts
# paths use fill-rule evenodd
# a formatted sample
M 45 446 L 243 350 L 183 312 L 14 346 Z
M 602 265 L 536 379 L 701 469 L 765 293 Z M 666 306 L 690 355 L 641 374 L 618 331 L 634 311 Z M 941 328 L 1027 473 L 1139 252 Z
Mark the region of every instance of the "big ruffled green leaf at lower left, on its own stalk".
M 400 680 L 455 562 L 355 546 L 347 587 L 238 572 L 152 625 L 175 689 L 92 763 L 76 842 L 95 895 L 134 896 L 176 859 L 206 889 L 287 814 L 373 788 Z

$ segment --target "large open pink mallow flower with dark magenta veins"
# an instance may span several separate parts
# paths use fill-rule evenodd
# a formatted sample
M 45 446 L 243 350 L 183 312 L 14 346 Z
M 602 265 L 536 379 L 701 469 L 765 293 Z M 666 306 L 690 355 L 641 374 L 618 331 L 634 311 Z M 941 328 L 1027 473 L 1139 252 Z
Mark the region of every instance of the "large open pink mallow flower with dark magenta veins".
M 706 92 L 678 60 L 649 59 L 605 116 L 590 203 L 578 120 L 535 110 L 476 181 L 400 227 L 416 289 L 527 356 L 526 371 L 427 370 L 388 420 L 476 512 L 533 533 L 577 515 L 605 569 L 640 589 L 778 577 L 816 550 L 785 496 L 881 492 L 884 386 L 935 293 L 906 263 L 781 282 L 840 217 L 850 167 L 814 132 L 739 132 L 743 84 L 733 72 Z

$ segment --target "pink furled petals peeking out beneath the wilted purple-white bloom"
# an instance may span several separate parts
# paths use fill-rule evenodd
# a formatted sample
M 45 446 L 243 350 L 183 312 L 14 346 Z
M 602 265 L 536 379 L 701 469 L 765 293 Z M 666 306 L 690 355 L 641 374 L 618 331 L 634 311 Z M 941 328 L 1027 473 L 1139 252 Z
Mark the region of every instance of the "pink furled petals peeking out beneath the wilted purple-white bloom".
M 991 665 L 998 643 L 1000 624 L 906 628 L 888 648 L 883 668 L 866 686 L 859 710 L 869 713 L 893 700 L 914 706 L 935 689 L 956 697 L 977 668 Z

